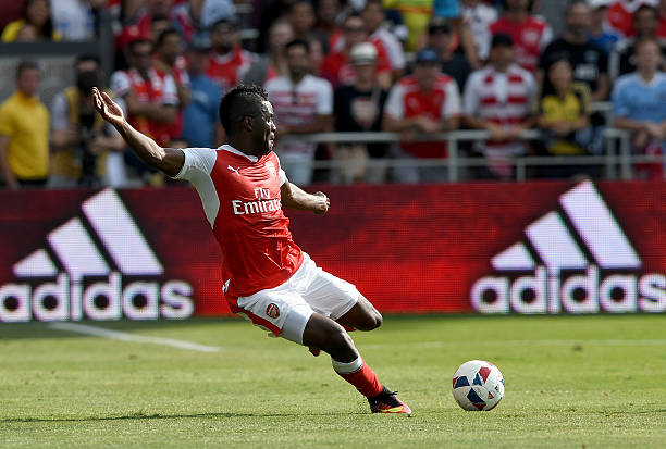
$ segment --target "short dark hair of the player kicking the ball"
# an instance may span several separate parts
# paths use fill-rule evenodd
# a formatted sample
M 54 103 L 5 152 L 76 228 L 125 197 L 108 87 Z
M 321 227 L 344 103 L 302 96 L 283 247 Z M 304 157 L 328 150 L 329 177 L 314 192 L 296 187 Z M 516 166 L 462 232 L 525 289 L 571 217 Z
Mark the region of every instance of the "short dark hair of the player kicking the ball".
M 243 120 L 261 113 L 261 103 L 268 95 L 261 86 L 238 85 L 222 97 L 220 101 L 220 122 L 229 136 L 235 135 Z

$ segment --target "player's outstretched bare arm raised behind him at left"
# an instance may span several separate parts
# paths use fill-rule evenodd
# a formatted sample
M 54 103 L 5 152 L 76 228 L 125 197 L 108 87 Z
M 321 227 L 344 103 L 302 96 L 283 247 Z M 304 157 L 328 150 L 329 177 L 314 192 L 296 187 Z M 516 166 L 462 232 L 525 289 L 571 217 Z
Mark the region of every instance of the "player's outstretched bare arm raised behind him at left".
M 185 163 L 185 153 L 182 150 L 162 148 L 150 137 L 134 129 L 125 120 L 123 110 L 106 92 L 94 88 L 92 96 L 97 112 L 118 129 L 123 140 L 141 161 L 169 176 L 175 176 L 181 172 Z

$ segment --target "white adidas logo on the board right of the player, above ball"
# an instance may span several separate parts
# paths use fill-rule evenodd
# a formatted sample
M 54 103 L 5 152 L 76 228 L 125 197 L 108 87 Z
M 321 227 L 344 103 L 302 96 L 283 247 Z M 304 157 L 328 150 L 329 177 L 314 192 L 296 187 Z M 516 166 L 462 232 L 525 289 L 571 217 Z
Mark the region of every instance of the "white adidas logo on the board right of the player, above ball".
M 493 269 L 507 275 L 478 279 L 472 307 L 481 313 L 665 312 L 666 276 L 639 275 L 641 259 L 594 185 L 577 185 L 559 204 L 562 212 L 526 227 L 526 242 L 492 258 Z

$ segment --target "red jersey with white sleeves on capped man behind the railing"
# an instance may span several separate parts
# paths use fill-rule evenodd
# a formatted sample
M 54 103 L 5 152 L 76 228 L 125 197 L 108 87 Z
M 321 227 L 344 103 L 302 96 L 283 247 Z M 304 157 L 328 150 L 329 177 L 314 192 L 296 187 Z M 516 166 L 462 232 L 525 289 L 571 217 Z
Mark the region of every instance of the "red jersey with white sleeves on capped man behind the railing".
M 460 115 L 460 92 L 455 79 L 439 75 L 434 88 L 424 92 L 414 75 L 402 78 L 388 93 L 384 113 L 394 120 L 428 116 L 434 121 Z M 445 158 L 446 142 L 400 144 L 417 158 Z

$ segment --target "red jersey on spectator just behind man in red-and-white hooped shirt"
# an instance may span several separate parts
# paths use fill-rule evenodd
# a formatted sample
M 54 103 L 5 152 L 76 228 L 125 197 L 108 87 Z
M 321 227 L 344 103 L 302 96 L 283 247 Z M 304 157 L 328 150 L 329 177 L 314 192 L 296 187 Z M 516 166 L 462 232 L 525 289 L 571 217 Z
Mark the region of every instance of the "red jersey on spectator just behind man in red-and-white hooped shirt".
M 507 34 L 514 39 L 516 62 L 525 70 L 534 73 L 541 51 L 553 39 L 553 32 L 547 23 L 534 16 L 522 22 L 499 17 L 490 26 L 491 36 Z

